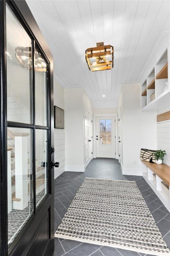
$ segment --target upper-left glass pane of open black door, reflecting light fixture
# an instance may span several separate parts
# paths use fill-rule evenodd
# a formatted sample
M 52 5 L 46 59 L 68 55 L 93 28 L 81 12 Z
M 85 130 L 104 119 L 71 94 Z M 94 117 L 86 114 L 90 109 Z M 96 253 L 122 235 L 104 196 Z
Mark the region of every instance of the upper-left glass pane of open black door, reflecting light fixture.
M 7 120 L 30 123 L 31 38 L 6 8 Z

